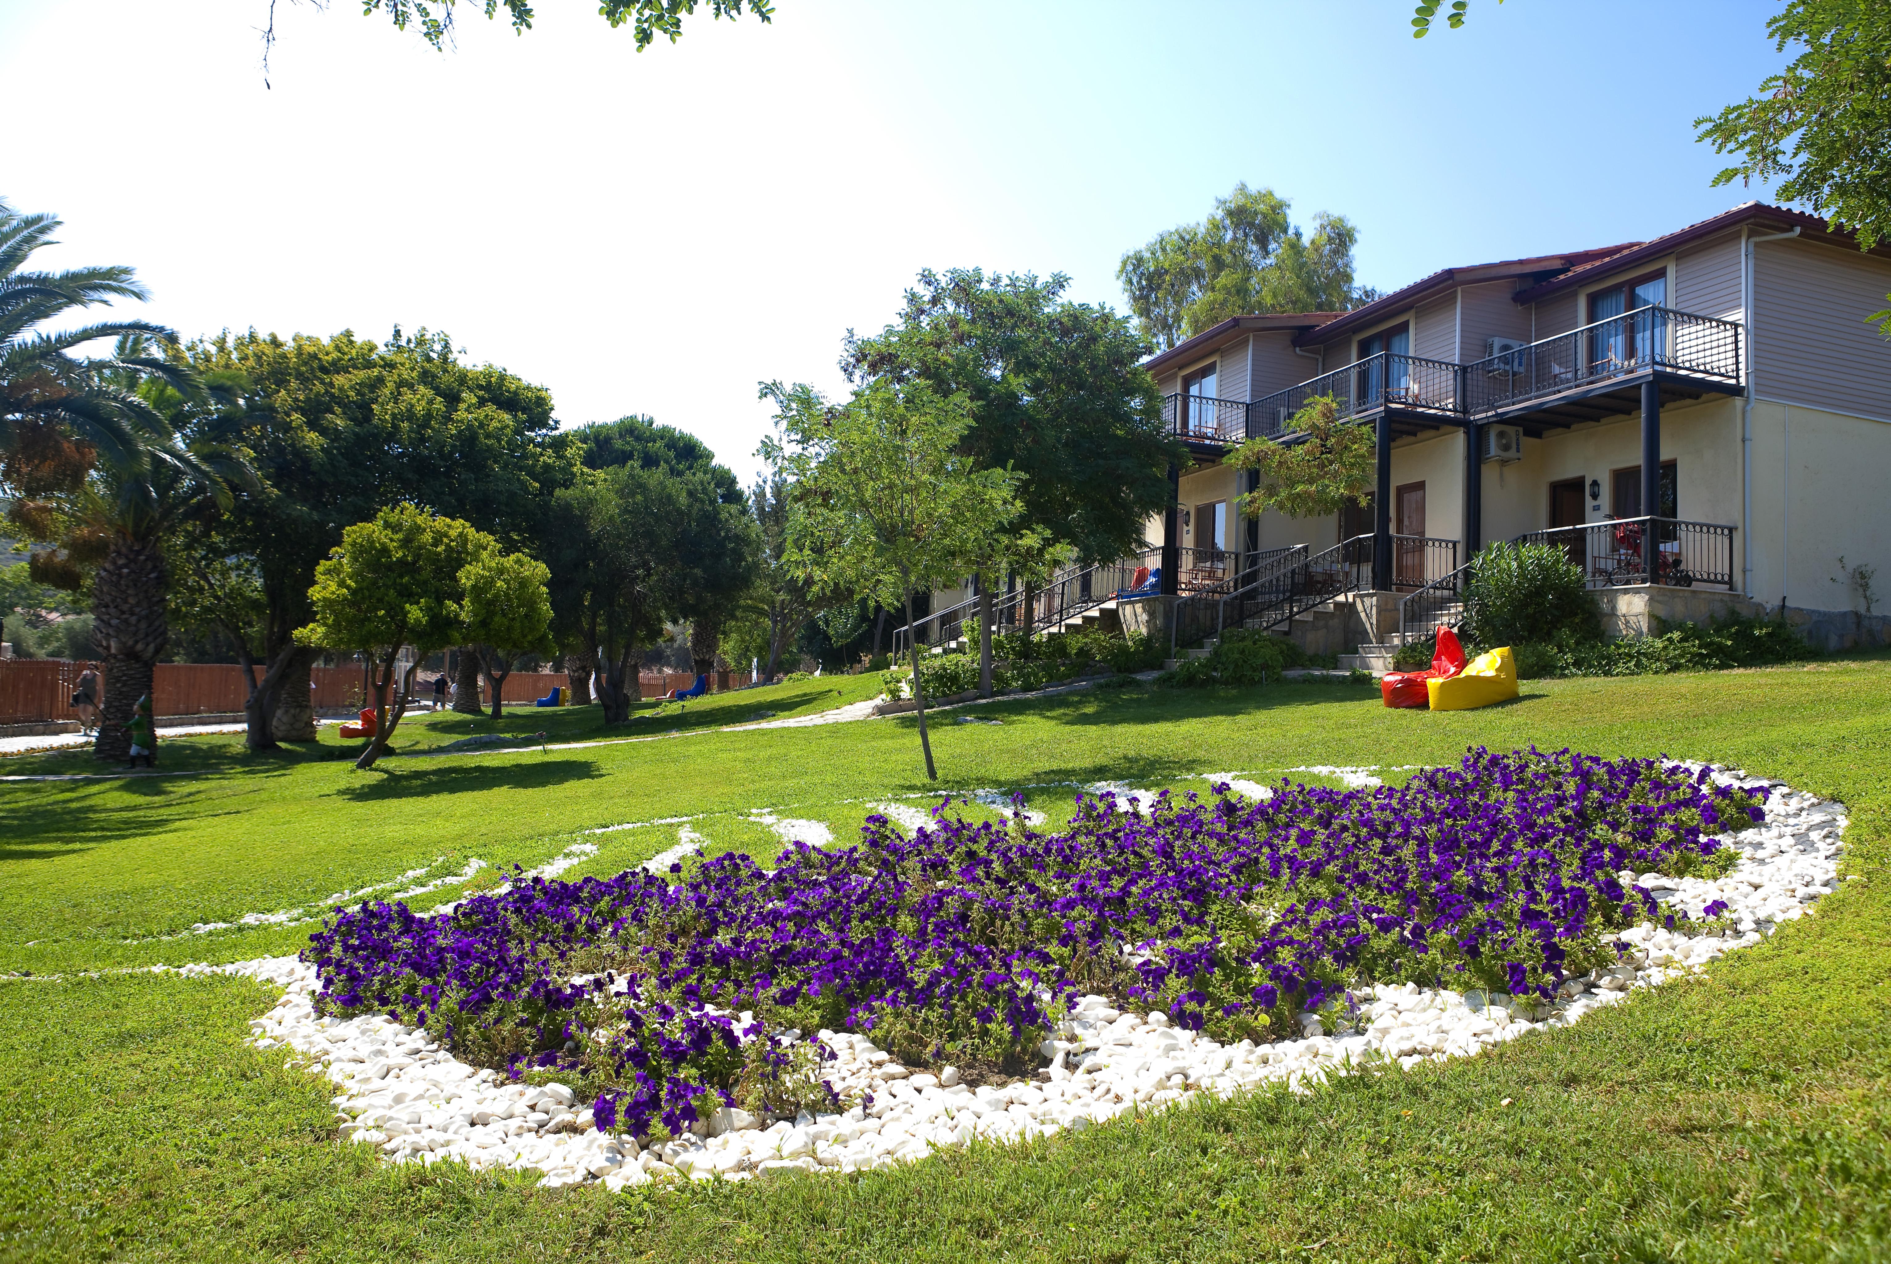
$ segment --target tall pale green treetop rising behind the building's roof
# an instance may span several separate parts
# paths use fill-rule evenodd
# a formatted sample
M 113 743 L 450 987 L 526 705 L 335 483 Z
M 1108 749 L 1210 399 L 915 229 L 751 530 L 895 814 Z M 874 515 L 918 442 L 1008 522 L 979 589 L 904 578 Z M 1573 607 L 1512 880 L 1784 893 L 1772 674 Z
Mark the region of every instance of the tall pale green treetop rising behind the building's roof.
M 1352 221 L 1320 212 L 1303 234 L 1288 210 L 1273 189 L 1239 183 L 1203 223 L 1127 251 L 1116 280 L 1144 334 L 1169 350 L 1233 316 L 1345 312 L 1379 297 L 1354 285 Z

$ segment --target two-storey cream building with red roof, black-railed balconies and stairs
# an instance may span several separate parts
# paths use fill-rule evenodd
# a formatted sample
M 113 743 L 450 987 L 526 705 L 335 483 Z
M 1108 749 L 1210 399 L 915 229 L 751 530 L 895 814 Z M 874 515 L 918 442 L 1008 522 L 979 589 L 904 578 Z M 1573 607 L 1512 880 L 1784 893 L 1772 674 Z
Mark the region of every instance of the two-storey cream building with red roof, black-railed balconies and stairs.
M 1866 319 L 1887 293 L 1891 244 L 1747 202 L 1649 242 L 1445 268 L 1354 312 L 1222 321 L 1148 361 L 1189 455 L 1150 550 L 1029 608 L 1008 595 L 1000 622 L 1135 608 L 1182 646 L 1348 599 L 1369 606 L 1352 642 L 1397 641 L 1450 618 L 1479 546 L 1532 537 L 1583 565 L 1617 631 L 1783 608 L 1827 646 L 1883 641 L 1861 580 L 1891 589 L 1891 340 Z M 1244 516 L 1254 474 L 1225 457 L 1297 442 L 1314 397 L 1373 429 L 1367 503 Z M 970 597 L 938 593 L 921 639 L 957 637 Z

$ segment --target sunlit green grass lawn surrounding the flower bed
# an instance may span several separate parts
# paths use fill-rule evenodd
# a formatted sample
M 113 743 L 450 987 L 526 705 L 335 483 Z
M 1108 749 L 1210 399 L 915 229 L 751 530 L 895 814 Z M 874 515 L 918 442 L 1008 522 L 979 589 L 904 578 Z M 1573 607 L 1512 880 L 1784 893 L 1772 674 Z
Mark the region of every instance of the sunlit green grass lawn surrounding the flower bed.
M 1526 682 L 1520 701 L 1481 712 L 1394 712 L 1322 684 L 997 701 L 976 712 L 998 726 L 942 722 L 942 786 L 1029 786 L 1040 811 L 1067 805 L 1072 784 L 1201 788 L 1205 773 L 1437 763 L 1467 744 L 1713 758 L 1842 799 L 1846 873 L 1863 880 L 1708 979 L 1554 1037 L 898 1171 L 613 1198 L 382 1170 L 335 1145 L 321 1081 L 242 1045 L 269 1005 L 253 984 L 0 982 L 0 1258 L 1885 1258 L 1887 688 L 1891 661 L 1866 656 Z M 764 693 L 709 701 L 777 710 Z M 291 950 L 306 928 L 149 935 L 435 858 L 435 871 L 471 856 L 535 863 L 581 837 L 599 852 L 573 873 L 616 871 L 675 845 L 681 826 L 582 829 L 694 816 L 713 848 L 766 854 L 779 835 L 755 809 L 843 837 L 874 803 L 928 803 L 908 718 L 717 733 L 736 716 L 715 714 L 668 718 L 662 731 L 690 733 L 677 741 L 390 760 L 367 775 L 327 750 L 248 760 L 231 741 L 180 739 L 166 767 L 200 775 L 0 786 L 0 969 Z M 412 741 L 439 746 L 478 724 L 429 718 Z M 503 724 L 599 737 L 581 714 Z M 70 754 L 4 771 L 28 765 L 91 771 Z

